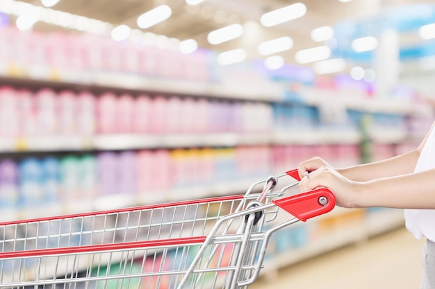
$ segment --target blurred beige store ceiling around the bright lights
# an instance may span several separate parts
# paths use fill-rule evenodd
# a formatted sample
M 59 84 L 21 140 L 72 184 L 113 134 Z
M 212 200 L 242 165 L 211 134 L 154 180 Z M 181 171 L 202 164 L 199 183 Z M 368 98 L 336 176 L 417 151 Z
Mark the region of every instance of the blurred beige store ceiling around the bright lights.
M 21 1 L 41 5 L 40 0 Z M 259 24 L 258 20 L 264 12 L 296 2 L 303 2 L 306 5 L 307 12 L 303 17 L 270 28 Z M 185 0 L 61 0 L 53 9 L 106 21 L 115 26 L 126 24 L 131 28 L 138 28 L 136 24 L 138 16 L 163 3 L 172 8 L 171 17 L 144 31 L 179 40 L 192 38 L 200 47 L 214 51 L 244 48 L 249 58 L 260 57 L 256 52 L 256 46 L 260 42 L 290 36 L 294 42 L 292 49 L 280 55 L 287 63 L 293 64 L 297 51 L 320 45 L 310 38 L 313 28 L 327 25 L 334 27 L 343 21 L 369 19 L 391 8 L 428 3 L 428 1 L 353 0 L 343 3 L 338 0 L 206 0 L 196 6 L 190 6 Z M 209 32 L 234 23 L 244 24 L 245 33 L 242 37 L 223 44 L 208 44 L 206 37 Z M 38 23 L 34 29 L 60 28 Z M 422 41 L 416 37 L 415 32 L 402 33 L 400 37 L 401 43 Z

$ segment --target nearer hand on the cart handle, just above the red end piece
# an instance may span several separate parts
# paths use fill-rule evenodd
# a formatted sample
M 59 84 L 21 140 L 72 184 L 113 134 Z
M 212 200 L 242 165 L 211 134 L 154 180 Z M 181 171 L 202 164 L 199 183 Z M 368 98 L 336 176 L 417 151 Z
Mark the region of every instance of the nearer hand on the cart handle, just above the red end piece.
M 337 170 L 331 166 L 320 166 L 321 159 L 313 159 L 309 168 L 314 168 L 311 173 L 302 177 L 299 187 L 302 192 L 313 191 L 319 187 L 326 187 L 336 196 L 336 204 L 339 207 L 354 208 L 359 207 L 359 198 L 363 189 L 362 183 L 354 182 L 343 177 Z M 304 171 L 304 170 L 302 170 Z M 309 171 L 309 169 L 305 170 Z

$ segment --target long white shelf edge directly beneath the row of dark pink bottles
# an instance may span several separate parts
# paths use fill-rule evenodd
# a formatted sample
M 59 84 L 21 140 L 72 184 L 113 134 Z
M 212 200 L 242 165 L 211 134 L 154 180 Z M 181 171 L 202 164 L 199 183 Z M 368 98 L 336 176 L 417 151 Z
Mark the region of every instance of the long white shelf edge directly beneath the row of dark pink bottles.
M 400 143 L 404 130 L 374 130 L 371 139 L 378 143 Z M 252 133 L 206 134 L 97 134 L 94 136 L 38 136 L 0 139 L 0 152 L 56 152 L 81 150 L 135 150 L 142 148 L 194 148 L 213 146 L 256 146 L 291 144 L 356 144 L 359 132 L 339 128 L 275 130 Z

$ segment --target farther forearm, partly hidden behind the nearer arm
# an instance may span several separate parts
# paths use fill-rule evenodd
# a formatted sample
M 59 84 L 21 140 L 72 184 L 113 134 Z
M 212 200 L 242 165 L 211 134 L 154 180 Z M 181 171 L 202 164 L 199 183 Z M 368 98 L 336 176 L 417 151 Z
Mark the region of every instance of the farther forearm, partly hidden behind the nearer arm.
M 418 156 L 418 150 L 411 150 L 402 155 L 391 157 L 390 159 L 375 161 L 370 164 L 341 168 L 338 169 L 338 172 L 347 177 L 347 179 L 352 179 L 357 182 L 366 182 L 371 179 L 405 175 L 413 173 L 417 164 Z

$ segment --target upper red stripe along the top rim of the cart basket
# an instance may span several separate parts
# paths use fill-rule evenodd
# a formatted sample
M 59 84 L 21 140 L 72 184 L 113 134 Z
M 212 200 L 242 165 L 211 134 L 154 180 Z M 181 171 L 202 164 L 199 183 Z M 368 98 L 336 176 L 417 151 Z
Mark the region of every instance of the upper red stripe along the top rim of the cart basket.
M 224 202 L 227 200 L 240 200 L 243 199 L 245 195 L 230 195 L 224 197 L 216 197 L 216 198 L 204 198 L 199 200 L 188 200 L 182 202 L 169 202 L 163 204 L 151 204 L 147 206 L 138 206 L 138 207 L 129 207 L 124 209 L 112 209 L 106 211 L 93 211 L 87 213 L 74 213 L 68 215 L 60 215 L 60 216 L 51 216 L 51 217 L 42 217 L 42 218 L 31 218 L 24 220 L 11 220 L 6 222 L 0 222 L 0 226 L 6 225 L 17 225 L 17 224 L 26 224 L 31 222 L 46 222 L 50 220 L 65 220 L 65 219 L 74 219 L 74 218 L 83 218 L 88 216 L 101 216 L 101 215 L 110 215 L 116 213 L 125 213 L 129 211 L 143 211 L 143 210 L 151 210 L 151 209 L 159 209 L 159 208 L 167 208 L 167 207 L 179 207 L 179 206 L 187 206 L 190 204 L 205 204 L 211 202 Z

